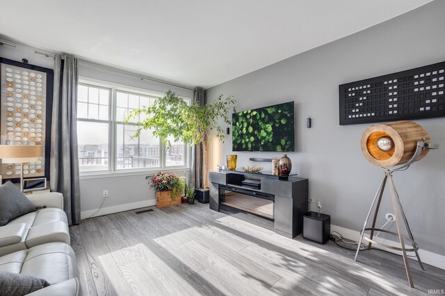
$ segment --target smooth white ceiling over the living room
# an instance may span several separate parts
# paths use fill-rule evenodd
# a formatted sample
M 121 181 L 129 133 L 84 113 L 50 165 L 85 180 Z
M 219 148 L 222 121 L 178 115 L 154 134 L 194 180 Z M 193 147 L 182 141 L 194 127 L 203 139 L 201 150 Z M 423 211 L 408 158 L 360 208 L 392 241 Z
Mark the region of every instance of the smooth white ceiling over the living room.
M 0 34 L 208 88 L 430 1 L 0 0 Z

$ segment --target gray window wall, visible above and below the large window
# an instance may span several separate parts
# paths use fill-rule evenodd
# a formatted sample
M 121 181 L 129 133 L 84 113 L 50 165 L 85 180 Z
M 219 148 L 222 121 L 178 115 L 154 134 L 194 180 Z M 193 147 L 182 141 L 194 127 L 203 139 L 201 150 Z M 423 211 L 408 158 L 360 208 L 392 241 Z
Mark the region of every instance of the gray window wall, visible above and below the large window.
M 0 35 L 0 39 L 8 41 Z M 35 48 L 26 46 L 18 42 L 10 42 L 16 44 L 15 48 L 10 46 L 0 46 L 0 57 L 10 60 L 21 61 L 22 58 L 29 60 L 29 64 L 35 64 L 41 67 L 54 69 L 54 59 L 46 58 L 43 55 L 34 53 Z M 37 49 L 42 51 L 41 49 Z M 193 91 L 180 87 L 172 87 L 161 82 L 150 80 L 140 80 L 136 76 L 127 75 L 108 69 L 107 67 L 97 67 L 94 64 L 79 62 L 79 76 L 103 80 L 106 82 L 114 82 L 121 85 L 138 87 L 140 89 L 148 89 L 155 92 L 166 92 L 172 89 L 180 96 L 193 98 Z M 144 207 L 148 204 L 155 204 L 155 193 L 149 189 L 145 176 L 148 172 L 118 174 L 118 175 L 102 175 L 102 176 L 81 176 L 81 211 L 82 218 L 90 216 L 104 201 L 102 191 L 108 190 L 109 197 L 105 200 L 103 207 L 108 208 L 98 214 L 106 214 L 113 211 L 127 210 L 131 207 Z M 183 176 L 184 169 L 177 171 L 177 175 Z

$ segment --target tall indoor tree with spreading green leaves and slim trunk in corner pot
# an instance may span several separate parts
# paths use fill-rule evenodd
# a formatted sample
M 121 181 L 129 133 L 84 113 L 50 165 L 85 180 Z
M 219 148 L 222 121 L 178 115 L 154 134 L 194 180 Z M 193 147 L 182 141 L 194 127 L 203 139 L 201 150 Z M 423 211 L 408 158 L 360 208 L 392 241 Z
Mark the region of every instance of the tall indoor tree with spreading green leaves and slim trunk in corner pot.
M 141 130 L 151 129 L 154 137 L 160 137 L 167 149 L 170 147 L 169 137 L 191 145 L 202 144 L 202 184 L 199 184 L 199 187 L 195 189 L 197 198 L 200 200 L 200 193 L 209 195 L 207 161 L 209 142 L 213 137 L 220 141 L 224 140 L 225 130 L 220 128 L 218 121 L 223 120 L 226 124 L 232 123 L 229 119 L 229 110 L 232 109 L 232 112 L 236 112 L 235 103 L 236 100 L 232 96 L 223 98 L 223 95 L 220 95 L 209 104 L 200 105 L 195 102 L 189 105 L 175 92 L 168 91 L 165 96 L 156 99 L 152 106 L 143 106 L 131 111 L 126 121 L 138 118 L 140 114 L 147 115 L 142 116 L 145 119 L 137 123 L 140 128 L 136 130 L 135 137 L 140 134 Z

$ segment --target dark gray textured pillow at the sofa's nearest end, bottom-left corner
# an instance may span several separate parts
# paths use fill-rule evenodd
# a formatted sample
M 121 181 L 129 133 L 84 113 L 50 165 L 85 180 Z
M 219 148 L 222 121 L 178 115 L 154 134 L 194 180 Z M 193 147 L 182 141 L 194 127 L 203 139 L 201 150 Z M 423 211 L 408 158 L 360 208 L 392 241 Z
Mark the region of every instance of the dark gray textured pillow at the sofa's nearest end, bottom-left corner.
M 22 296 L 49 286 L 49 283 L 38 277 L 14 272 L 0 272 L 0 295 Z

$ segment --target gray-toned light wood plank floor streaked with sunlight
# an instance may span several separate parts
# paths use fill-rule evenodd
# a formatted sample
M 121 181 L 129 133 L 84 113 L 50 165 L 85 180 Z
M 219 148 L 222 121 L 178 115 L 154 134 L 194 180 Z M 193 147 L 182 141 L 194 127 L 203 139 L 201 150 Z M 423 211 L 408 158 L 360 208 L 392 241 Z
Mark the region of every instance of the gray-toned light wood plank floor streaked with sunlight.
M 428 295 L 445 271 L 333 242 L 284 238 L 243 220 L 181 204 L 127 211 L 70 227 L 85 295 Z

